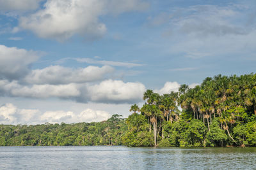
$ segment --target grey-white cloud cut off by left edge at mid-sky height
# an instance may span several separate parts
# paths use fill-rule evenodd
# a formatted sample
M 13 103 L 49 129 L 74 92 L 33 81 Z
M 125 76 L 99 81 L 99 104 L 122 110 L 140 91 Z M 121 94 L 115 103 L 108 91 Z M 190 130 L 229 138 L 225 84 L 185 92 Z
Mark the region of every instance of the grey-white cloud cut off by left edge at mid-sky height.
M 29 73 L 29 66 L 38 59 L 32 50 L 0 45 L 0 79 L 20 79 Z

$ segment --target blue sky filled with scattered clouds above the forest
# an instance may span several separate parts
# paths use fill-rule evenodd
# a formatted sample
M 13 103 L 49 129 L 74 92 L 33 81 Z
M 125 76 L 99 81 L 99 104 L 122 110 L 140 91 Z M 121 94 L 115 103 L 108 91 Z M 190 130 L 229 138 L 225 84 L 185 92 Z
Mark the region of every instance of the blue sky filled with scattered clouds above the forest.
M 0 0 L 0 124 L 127 117 L 256 66 L 254 0 Z

